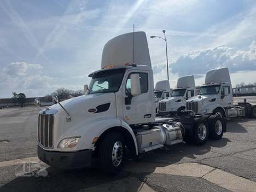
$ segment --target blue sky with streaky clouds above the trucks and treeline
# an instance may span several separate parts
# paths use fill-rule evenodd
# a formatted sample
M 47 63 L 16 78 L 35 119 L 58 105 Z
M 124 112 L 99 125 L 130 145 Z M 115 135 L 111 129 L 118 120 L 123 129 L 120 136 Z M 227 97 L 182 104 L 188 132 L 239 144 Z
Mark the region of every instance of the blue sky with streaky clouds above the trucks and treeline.
M 228 66 L 232 84 L 256 82 L 255 1 L 0 1 L 0 97 L 83 89 L 104 44 L 121 33 L 166 30 L 170 84 Z M 164 41 L 148 38 L 154 82 L 166 77 Z

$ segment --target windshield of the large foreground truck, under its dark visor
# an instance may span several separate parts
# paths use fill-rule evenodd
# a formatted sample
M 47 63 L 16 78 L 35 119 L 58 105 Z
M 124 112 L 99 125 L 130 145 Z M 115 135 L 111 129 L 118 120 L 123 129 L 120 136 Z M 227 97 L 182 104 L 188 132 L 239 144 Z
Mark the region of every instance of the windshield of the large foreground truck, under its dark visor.
M 97 94 L 102 92 L 117 92 L 123 80 L 125 69 L 108 69 L 92 73 L 88 94 Z

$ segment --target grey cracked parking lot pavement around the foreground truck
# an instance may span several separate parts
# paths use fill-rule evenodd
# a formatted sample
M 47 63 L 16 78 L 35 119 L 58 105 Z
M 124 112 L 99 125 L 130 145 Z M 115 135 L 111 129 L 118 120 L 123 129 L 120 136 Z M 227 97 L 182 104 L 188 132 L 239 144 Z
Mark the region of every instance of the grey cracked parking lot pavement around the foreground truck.
M 38 112 L 0 109 L 0 191 L 256 191 L 254 119 L 228 120 L 223 138 L 204 146 L 180 143 L 146 153 L 110 177 L 97 168 L 64 171 L 40 162 Z M 40 176 L 22 175 L 27 165 L 39 167 Z

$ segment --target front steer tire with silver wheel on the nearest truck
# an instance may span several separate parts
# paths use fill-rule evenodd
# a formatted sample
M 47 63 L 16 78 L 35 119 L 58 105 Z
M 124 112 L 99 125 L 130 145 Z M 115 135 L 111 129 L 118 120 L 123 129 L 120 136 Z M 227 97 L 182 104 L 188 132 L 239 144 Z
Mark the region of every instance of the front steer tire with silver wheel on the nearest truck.
M 118 132 L 108 133 L 100 143 L 98 156 L 100 166 L 107 174 L 118 174 L 124 166 L 124 137 Z

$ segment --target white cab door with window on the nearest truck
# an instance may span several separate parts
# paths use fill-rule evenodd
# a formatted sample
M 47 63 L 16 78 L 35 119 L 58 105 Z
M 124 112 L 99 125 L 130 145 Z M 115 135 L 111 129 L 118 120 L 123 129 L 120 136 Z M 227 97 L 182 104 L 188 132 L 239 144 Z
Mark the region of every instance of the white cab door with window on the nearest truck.
M 139 74 L 139 82 L 141 85 L 141 95 L 131 96 L 131 79 L 132 73 Z M 126 80 L 123 89 L 124 105 L 123 114 L 127 124 L 147 123 L 155 118 L 154 90 L 151 88 L 149 79 L 151 77 L 149 71 L 131 71 L 126 74 Z M 152 79 L 153 81 L 153 79 Z M 154 112 L 154 114 L 153 114 Z

